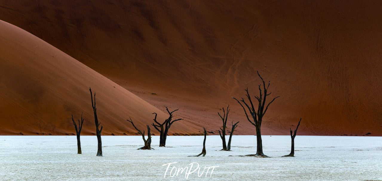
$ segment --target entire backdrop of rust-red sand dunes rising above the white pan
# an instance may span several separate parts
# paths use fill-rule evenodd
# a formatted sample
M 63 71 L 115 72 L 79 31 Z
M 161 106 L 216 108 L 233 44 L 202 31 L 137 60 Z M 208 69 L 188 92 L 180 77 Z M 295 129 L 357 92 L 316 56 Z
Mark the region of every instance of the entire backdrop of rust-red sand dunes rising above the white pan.
M 0 134 L 70 135 L 89 86 L 104 135 L 134 135 L 165 106 L 172 134 L 215 134 L 231 105 L 237 134 L 253 135 L 231 98 L 272 96 L 263 134 L 382 135 L 381 1 L 1 1 Z M 3 22 L 4 21 L 4 22 Z M 14 26 L 11 26 L 10 23 Z M 38 133 L 38 134 L 37 134 Z

